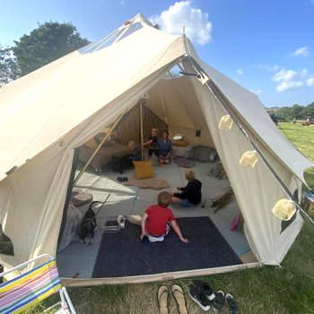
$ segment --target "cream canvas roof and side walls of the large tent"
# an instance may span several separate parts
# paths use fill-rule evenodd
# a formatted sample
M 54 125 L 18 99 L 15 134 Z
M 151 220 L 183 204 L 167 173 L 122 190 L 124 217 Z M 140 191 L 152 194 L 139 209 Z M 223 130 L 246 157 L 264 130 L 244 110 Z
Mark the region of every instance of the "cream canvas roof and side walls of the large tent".
M 255 95 L 205 65 L 184 36 L 164 34 L 140 15 L 136 19 L 143 27 L 109 47 L 74 51 L 1 88 L 0 133 L 5 136 L 0 143 L 0 223 L 14 247 L 14 256 L 0 255 L 1 264 L 15 266 L 42 253 L 56 255 L 74 148 L 135 106 L 162 74 L 189 54 L 292 191 L 300 185 L 302 171 L 312 166 L 275 129 Z M 186 68 L 193 70 L 188 64 Z M 190 112 L 193 98 L 198 108 L 188 116 L 190 129 L 201 125 L 210 130 L 246 220 L 251 248 L 261 262 L 278 265 L 301 229 L 301 216 L 281 233 L 271 208 L 283 191 L 262 162 L 254 170 L 240 168 L 247 140 L 236 128 L 219 131 L 225 112 L 217 99 L 195 77 L 186 82 L 189 89 L 182 88 L 183 83 L 178 89 L 182 94 L 190 91 L 184 97 L 191 101 L 181 106 Z M 164 103 L 170 112 L 172 100 Z M 171 119 L 170 126 L 181 127 L 178 118 Z

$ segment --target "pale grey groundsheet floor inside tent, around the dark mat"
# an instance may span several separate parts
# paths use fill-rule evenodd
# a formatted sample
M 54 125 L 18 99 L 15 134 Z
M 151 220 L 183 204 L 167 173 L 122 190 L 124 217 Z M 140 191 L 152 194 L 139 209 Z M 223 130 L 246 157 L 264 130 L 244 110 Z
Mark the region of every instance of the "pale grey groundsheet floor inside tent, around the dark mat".
M 156 178 L 165 179 L 170 184 L 171 188 L 167 190 L 171 191 L 175 187 L 183 187 L 187 184 L 184 168 L 180 168 L 174 163 L 159 167 L 156 159 L 153 159 L 153 166 Z M 191 169 L 196 172 L 196 178 L 203 183 L 202 194 L 206 199 L 205 207 L 197 205 L 193 208 L 182 208 L 170 205 L 170 208 L 176 217 L 209 216 L 243 263 L 256 262 L 257 259 L 249 250 L 244 232 L 230 231 L 232 220 L 236 214 L 239 214 L 236 200 L 233 199 L 230 204 L 214 214 L 211 199 L 226 192 L 229 189 L 229 181 L 208 176 L 211 167 L 213 167 L 212 163 L 196 162 L 196 166 Z M 157 195 L 161 192 L 159 190 L 126 187 L 118 182 L 119 176 L 121 175 L 118 172 L 110 169 L 105 170 L 102 175 L 85 172 L 76 186 L 76 188 L 92 193 L 93 200 L 96 201 L 103 201 L 110 193 L 108 202 L 97 215 L 98 226 L 104 226 L 107 221 L 112 220 L 113 216 L 119 214 L 142 215 L 149 205 L 156 203 Z M 125 170 L 122 177 L 134 179 L 135 171 L 133 169 Z M 57 264 L 60 275 L 67 278 L 92 278 L 102 235 L 101 228 L 97 228 L 92 245 L 83 244 L 79 241 L 72 242 L 68 247 L 58 252 Z M 117 256 L 117 258 L 119 257 Z

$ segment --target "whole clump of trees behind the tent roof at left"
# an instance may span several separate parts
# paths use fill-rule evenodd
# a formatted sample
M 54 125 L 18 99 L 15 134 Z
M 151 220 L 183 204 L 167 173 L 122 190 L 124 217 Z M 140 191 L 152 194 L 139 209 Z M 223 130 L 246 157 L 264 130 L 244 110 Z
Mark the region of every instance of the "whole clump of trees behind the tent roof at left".
M 30 34 L 0 46 L 0 86 L 90 43 L 72 23 L 45 22 Z

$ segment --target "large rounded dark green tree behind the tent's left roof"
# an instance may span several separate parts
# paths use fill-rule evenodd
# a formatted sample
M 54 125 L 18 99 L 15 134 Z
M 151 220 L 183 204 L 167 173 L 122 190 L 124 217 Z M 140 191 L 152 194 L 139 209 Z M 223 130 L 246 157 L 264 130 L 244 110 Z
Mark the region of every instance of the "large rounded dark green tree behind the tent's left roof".
M 24 75 L 90 42 L 71 23 L 45 22 L 14 43 L 13 53 Z

